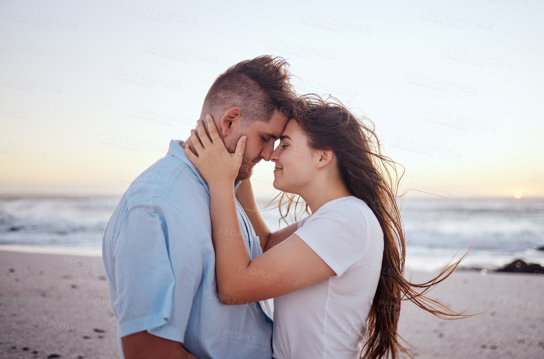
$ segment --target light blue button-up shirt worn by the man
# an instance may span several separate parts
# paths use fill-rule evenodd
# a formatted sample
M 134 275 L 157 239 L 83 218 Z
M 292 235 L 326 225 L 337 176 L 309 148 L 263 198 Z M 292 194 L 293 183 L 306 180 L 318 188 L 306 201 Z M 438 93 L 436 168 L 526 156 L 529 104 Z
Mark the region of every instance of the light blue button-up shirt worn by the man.
M 166 156 L 132 182 L 104 231 L 102 257 L 118 336 L 147 330 L 182 342 L 197 357 L 270 359 L 272 301 L 221 303 L 208 184 L 181 144 L 170 141 Z M 254 259 L 262 254 L 258 237 L 238 201 L 236 207 Z M 119 348 L 123 358 L 121 341 Z

